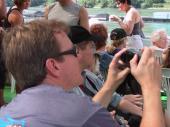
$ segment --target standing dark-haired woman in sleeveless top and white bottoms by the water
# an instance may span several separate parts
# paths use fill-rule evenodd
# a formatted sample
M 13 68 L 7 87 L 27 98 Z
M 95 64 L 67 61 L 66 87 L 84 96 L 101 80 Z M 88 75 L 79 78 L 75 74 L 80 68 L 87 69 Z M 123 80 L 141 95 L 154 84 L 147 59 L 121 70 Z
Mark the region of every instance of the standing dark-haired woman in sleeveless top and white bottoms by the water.
M 112 21 L 118 22 L 119 26 L 123 28 L 128 37 L 127 47 L 141 49 L 143 48 L 143 42 L 141 38 L 144 38 L 142 28 L 144 22 L 140 13 L 131 4 L 131 0 L 116 0 L 117 7 L 120 11 L 126 13 L 124 20 L 116 15 L 111 15 Z

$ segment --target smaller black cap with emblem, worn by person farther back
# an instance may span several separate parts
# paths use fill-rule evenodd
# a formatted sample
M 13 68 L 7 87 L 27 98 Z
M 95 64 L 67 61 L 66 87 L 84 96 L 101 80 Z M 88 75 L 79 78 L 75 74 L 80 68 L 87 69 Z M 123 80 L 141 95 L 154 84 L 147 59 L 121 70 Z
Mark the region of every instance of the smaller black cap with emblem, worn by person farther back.
M 111 40 L 120 40 L 126 36 L 127 36 L 127 34 L 126 34 L 125 30 L 122 28 L 113 29 L 110 33 Z

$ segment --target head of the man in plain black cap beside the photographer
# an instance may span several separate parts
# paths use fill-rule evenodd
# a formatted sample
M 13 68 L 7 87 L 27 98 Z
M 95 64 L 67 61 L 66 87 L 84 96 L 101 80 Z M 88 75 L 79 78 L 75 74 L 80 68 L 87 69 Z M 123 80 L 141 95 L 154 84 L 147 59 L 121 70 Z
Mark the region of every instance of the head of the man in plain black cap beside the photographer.
M 78 60 L 82 71 L 92 68 L 94 62 L 95 44 L 98 37 L 89 33 L 81 26 L 72 26 L 70 30 L 70 39 L 79 49 Z

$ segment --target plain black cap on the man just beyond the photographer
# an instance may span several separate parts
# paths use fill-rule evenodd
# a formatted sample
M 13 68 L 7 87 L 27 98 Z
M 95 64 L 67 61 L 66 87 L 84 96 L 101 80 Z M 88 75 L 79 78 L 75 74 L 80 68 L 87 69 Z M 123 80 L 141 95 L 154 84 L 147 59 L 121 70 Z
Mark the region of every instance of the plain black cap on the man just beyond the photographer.
M 100 40 L 99 36 L 91 34 L 88 30 L 81 26 L 71 26 L 68 37 L 73 42 L 73 44 L 78 44 L 83 41 L 97 42 Z

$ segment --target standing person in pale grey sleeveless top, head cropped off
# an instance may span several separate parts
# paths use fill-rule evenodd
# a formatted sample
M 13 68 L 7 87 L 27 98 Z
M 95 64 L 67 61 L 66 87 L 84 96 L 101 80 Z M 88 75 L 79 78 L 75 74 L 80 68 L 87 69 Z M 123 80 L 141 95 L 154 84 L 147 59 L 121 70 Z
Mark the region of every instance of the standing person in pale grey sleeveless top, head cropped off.
M 56 0 L 56 2 L 45 10 L 46 19 L 54 19 L 66 24 L 80 25 L 89 30 L 87 10 L 72 0 Z

